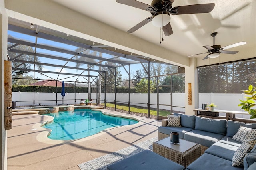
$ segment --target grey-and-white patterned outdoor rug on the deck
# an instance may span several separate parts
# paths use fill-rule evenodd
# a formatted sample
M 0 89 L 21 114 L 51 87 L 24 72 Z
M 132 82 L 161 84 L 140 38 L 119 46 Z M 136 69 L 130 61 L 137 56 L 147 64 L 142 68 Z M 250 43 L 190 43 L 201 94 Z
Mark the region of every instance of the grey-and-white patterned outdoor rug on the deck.
M 100 156 L 99 158 L 84 162 L 78 166 L 81 170 L 106 170 L 107 166 L 113 164 L 114 162 L 128 158 L 129 156 L 137 154 L 146 149 L 152 150 L 152 143 L 156 142 L 157 140 L 158 137 L 152 138 L 150 140 L 135 144 L 134 146 L 129 146 L 111 154 L 106 154 L 104 156 Z

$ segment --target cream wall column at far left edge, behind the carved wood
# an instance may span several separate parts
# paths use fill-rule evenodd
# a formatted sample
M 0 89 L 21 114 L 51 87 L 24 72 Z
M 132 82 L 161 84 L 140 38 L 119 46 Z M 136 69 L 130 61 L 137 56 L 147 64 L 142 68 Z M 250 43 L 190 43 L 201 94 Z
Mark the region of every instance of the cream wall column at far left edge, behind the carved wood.
M 8 32 L 8 16 L 5 10 L 5 0 L 0 0 L 0 51 L 1 51 L 1 65 L 0 65 L 0 109 L 1 109 L 1 155 L 2 158 L 0 160 L 1 169 L 7 169 L 7 134 L 6 130 L 4 130 L 4 60 L 8 60 L 7 57 L 7 32 Z

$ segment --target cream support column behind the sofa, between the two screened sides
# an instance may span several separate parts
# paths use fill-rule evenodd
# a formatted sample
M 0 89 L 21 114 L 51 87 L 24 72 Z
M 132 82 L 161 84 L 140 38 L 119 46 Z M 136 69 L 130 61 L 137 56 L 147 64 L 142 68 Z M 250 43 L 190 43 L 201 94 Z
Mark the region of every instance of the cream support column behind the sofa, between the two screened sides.
M 191 83 L 192 105 L 188 103 L 188 83 Z M 185 84 L 185 113 L 194 115 L 194 109 L 198 108 L 196 58 L 190 58 L 190 67 L 185 67 Z

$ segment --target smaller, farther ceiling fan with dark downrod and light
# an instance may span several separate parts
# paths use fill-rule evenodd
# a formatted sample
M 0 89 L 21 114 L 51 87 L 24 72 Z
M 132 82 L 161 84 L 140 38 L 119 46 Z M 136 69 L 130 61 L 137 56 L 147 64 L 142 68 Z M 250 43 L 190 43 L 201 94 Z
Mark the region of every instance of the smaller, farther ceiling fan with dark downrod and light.
M 246 42 L 238 42 L 238 43 L 234 43 L 232 45 L 228 45 L 226 47 L 221 47 L 220 45 L 215 45 L 215 36 L 218 34 L 218 32 L 214 32 L 211 34 L 211 36 L 213 37 L 213 45 L 206 45 L 203 46 L 207 49 L 206 53 L 210 53 L 208 55 L 206 55 L 206 57 L 204 57 L 204 59 L 208 59 L 208 58 L 217 58 L 220 56 L 220 53 L 225 53 L 225 54 L 236 54 L 238 53 L 238 51 L 227 51 L 225 49 L 229 49 L 229 48 L 233 48 L 233 47 L 238 47 L 240 45 L 244 45 L 246 44 Z M 206 53 L 200 53 L 200 54 L 206 54 Z M 200 54 L 194 54 L 194 55 L 190 55 L 188 57 L 192 57 L 195 55 L 200 55 Z

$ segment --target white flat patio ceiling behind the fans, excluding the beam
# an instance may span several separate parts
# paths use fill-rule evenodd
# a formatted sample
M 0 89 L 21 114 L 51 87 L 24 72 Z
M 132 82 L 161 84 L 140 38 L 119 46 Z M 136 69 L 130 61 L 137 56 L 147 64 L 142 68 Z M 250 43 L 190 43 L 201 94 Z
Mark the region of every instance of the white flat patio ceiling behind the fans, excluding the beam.
M 117 3 L 115 0 L 53 0 L 72 10 L 104 22 L 119 30 L 127 31 L 142 20 L 151 16 L 150 12 Z M 152 0 L 140 0 L 151 4 Z M 255 0 L 175 0 L 172 7 L 215 3 L 206 14 L 171 15 L 173 34 L 165 37 L 160 44 L 160 28 L 148 23 L 132 33 L 146 41 L 161 45 L 182 56 L 204 53 L 204 45 L 213 45 L 212 32 L 218 32 L 215 45 L 222 47 L 246 41 L 246 45 L 229 50 L 240 51 L 256 56 L 256 1 Z M 248 50 L 250 49 L 250 50 Z M 246 51 L 243 51 L 246 50 Z M 204 58 L 207 54 L 198 55 Z M 234 55 L 222 54 L 226 57 Z M 237 54 L 236 54 L 237 55 Z M 235 60 L 235 59 L 234 59 Z

